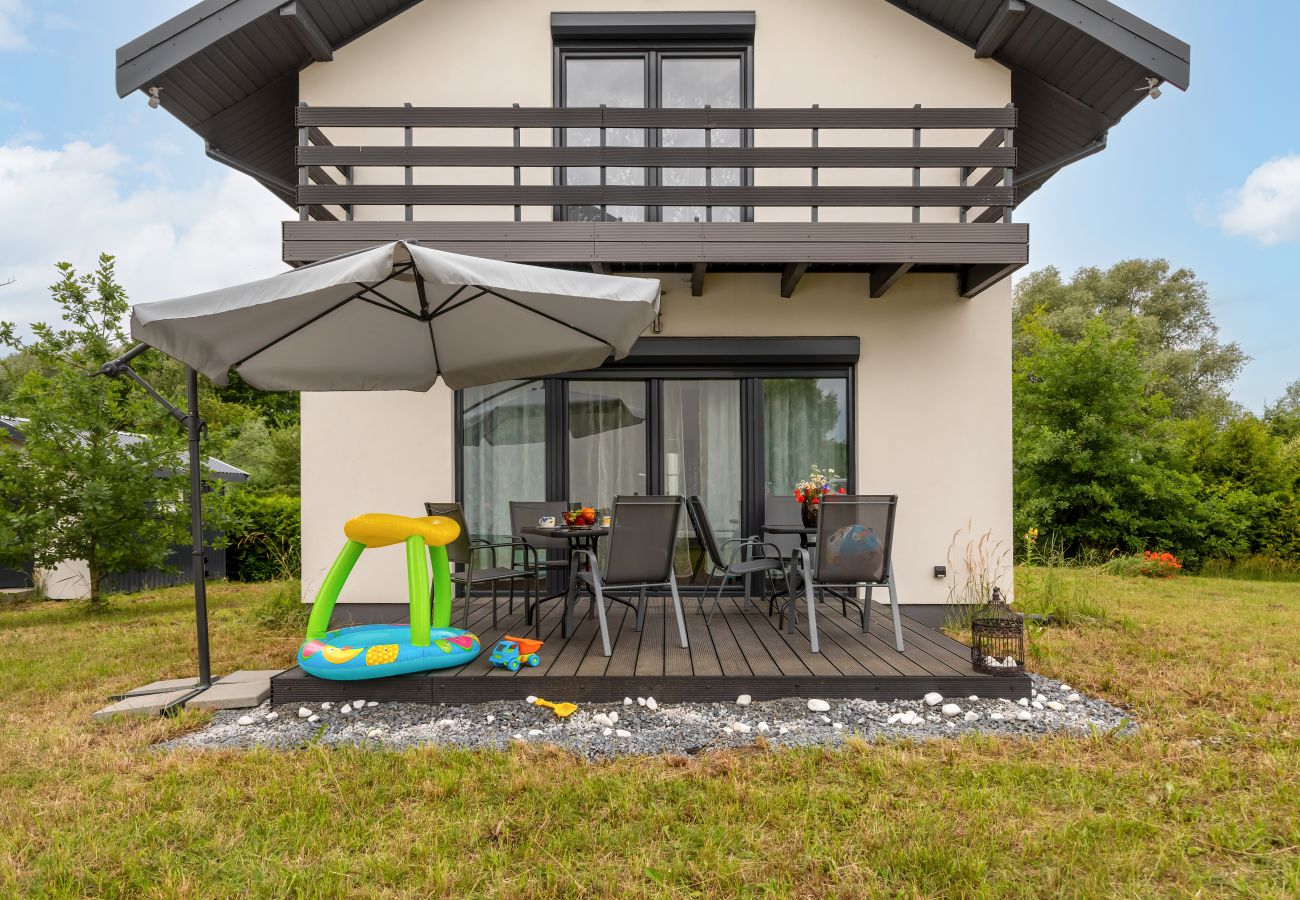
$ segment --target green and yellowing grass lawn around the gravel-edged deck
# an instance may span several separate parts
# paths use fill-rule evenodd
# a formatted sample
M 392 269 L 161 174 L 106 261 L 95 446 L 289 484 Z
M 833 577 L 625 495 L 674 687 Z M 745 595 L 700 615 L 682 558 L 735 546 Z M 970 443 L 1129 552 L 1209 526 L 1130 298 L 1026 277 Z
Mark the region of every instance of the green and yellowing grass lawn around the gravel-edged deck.
M 1300 585 L 1076 571 L 1110 624 L 1035 668 L 1134 737 L 760 748 L 183 752 L 203 715 L 92 724 L 191 674 L 185 589 L 0 607 L 0 893 L 1300 895 Z M 213 668 L 282 666 L 265 587 L 211 590 Z

